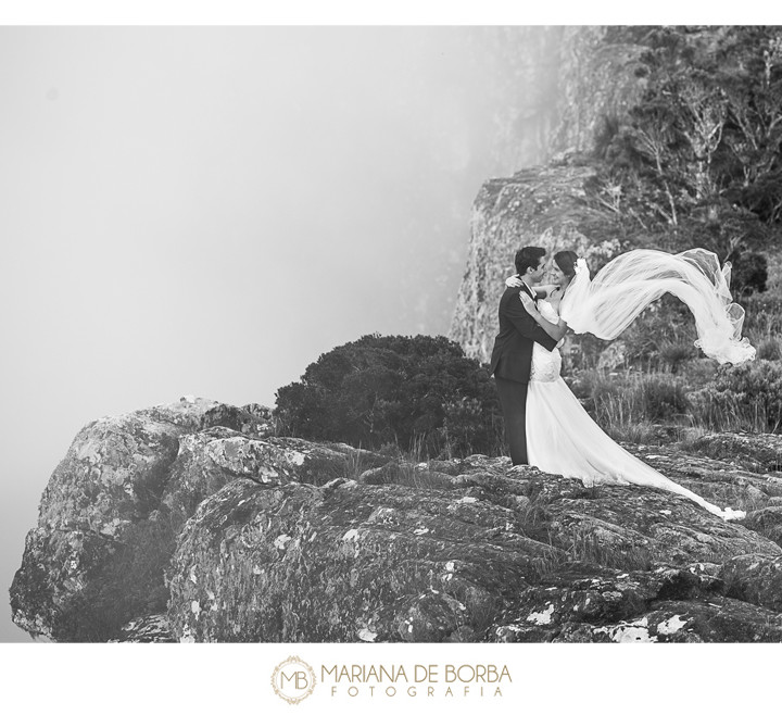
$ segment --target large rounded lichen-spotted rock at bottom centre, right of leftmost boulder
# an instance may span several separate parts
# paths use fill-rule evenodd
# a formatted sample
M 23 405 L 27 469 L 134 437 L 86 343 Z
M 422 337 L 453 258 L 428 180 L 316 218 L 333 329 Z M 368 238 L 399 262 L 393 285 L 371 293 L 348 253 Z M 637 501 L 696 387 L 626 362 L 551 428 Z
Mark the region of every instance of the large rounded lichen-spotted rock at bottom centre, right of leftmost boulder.
M 552 551 L 452 490 L 235 481 L 181 535 L 169 618 L 184 640 L 443 640 Z

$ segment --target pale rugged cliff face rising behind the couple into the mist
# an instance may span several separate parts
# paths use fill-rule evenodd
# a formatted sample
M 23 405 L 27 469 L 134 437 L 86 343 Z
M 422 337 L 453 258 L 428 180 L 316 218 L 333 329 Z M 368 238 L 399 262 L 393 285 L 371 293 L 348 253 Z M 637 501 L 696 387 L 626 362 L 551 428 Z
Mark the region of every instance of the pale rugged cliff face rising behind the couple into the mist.
M 610 238 L 615 231 L 607 230 L 610 211 L 586 201 L 596 168 L 583 158 L 594 149 L 606 120 L 625 117 L 641 101 L 646 80 L 636 70 L 646 48 L 610 37 L 602 26 L 535 35 L 546 51 L 556 42 L 557 52 L 554 68 L 539 61 L 540 77 L 529 84 L 545 80 L 555 90 L 537 104 L 530 100 L 527 124 L 518 129 L 519 147 L 534 137 L 543 148 L 538 154 L 529 149 L 521 154 L 539 165 L 489 179 L 472 205 L 467 264 L 449 333 L 471 358 L 489 361 L 500 296 L 505 278 L 515 273 L 519 248 L 541 246 L 550 253 L 569 249 L 593 266 L 594 259 L 600 263 L 620 248 Z

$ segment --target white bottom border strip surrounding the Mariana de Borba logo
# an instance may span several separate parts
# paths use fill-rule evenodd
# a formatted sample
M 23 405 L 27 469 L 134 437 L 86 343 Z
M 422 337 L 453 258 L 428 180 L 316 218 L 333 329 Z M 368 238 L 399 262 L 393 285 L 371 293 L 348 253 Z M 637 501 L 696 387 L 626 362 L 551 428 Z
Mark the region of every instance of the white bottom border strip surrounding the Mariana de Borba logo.
M 291 655 L 307 662 L 317 685 L 295 705 L 270 686 L 276 665 Z M 778 702 L 777 645 L 743 644 L 29 644 L 0 648 L 5 698 L 24 711 L 59 715 L 134 713 L 728 713 Z M 436 695 L 418 686 L 398 694 L 337 697 L 323 682 L 331 664 L 439 665 Z M 507 666 L 502 698 L 484 686 L 444 694 L 447 664 Z M 379 692 L 381 688 L 376 687 Z M 767 700 L 768 699 L 768 700 Z M 237 708 L 241 707 L 239 711 Z M 760 712 L 766 712 L 762 707 Z

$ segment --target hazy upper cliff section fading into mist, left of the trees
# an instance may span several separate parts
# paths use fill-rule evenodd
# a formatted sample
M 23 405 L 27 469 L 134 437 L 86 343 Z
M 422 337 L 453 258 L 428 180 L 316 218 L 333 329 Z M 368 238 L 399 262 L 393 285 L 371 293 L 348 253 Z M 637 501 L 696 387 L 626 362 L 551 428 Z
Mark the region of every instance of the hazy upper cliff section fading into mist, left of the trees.
M 606 26 L 484 27 L 476 52 L 494 58 L 494 165 L 508 174 L 566 151 L 589 152 L 605 118 L 625 115 L 646 79 L 645 48 Z

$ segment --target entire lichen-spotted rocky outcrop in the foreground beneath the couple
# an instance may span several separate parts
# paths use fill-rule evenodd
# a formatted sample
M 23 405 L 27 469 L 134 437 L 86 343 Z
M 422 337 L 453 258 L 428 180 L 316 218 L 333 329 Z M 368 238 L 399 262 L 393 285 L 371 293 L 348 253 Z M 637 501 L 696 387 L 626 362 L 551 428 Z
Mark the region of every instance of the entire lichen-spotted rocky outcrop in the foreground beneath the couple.
M 70 641 L 780 642 L 782 474 L 707 443 L 632 451 L 745 522 L 504 457 L 275 437 L 204 400 L 98 421 L 43 494 L 14 620 Z

